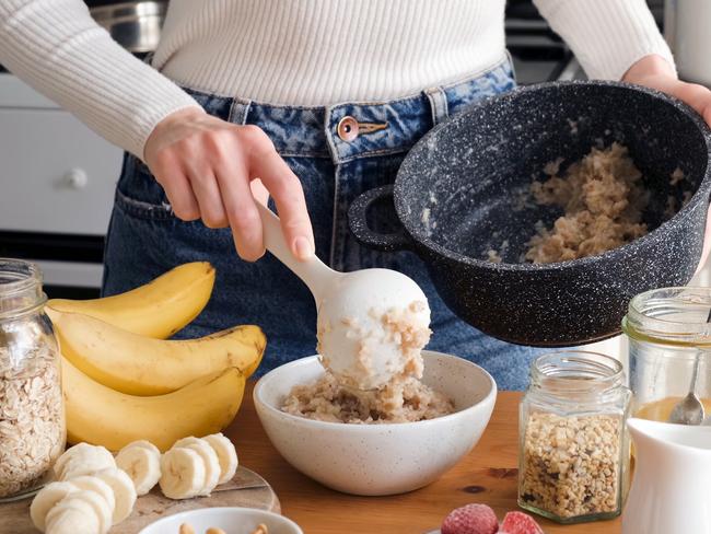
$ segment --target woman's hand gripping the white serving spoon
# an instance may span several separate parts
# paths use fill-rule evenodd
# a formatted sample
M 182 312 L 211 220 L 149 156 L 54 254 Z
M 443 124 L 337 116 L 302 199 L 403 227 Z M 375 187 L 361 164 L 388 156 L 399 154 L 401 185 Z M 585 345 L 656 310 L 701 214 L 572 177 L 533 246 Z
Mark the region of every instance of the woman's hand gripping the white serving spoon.
M 153 129 L 144 161 L 184 221 L 232 228 L 240 256 L 265 252 L 255 196 L 273 197 L 287 243 L 300 259 L 314 254 L 314 235 L 301 182 L 256 126 L 240 126 L 198 108 L 175 112 Z M 264 184 L 264 186 L 261 185 Z

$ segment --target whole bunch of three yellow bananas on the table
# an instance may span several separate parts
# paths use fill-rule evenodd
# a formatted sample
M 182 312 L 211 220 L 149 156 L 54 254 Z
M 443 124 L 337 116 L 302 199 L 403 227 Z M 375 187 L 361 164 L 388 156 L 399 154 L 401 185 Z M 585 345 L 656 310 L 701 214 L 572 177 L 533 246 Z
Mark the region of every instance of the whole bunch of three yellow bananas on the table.
M 166 451 L 232 421 L 266 348 L 261 329 L 164 339 L 200 313 L 213 282 L 209 264 L 193 263 L 115 297 L 47 303 L 63 357 L 70 443 L 119 451 L 149 441 Z M 141 455 L 132 450 L 128 457 Z

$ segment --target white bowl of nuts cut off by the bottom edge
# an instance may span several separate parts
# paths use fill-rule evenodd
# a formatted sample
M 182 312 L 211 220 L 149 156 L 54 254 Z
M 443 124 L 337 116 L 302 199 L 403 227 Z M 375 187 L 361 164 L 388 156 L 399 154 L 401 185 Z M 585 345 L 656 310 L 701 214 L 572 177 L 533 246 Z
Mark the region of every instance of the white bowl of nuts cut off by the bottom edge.
M 222 529 L 226 534 L 252 534 L 259 523 L 269 529 L 269 534 L 304 534 L 296 523 L 278 513 L 256 508 L 200 508 L 175 513 L 145 526 L 138 534 L 178 534 L 183 523 L 190 523 L 197 534 L 210 526 Z

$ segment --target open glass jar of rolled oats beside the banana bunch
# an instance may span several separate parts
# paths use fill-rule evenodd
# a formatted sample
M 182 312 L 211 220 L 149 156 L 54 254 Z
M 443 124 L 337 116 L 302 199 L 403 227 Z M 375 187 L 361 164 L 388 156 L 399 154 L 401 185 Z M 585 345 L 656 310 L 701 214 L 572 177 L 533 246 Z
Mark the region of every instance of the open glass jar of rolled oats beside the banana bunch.
M 36 265 L 0 258 L 0 502 L 34 494 L 66 441 L 59 351 Z

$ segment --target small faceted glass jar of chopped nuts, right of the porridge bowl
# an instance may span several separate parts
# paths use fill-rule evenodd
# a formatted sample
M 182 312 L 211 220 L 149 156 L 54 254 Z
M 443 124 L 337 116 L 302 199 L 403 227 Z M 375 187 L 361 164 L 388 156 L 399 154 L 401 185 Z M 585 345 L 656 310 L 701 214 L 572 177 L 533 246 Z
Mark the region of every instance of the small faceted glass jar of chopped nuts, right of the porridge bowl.
M 570 350 L 536 359 L 520 407 L 518 506 L 559 523 L 618 515 L 630 403 L 619 361 Z

